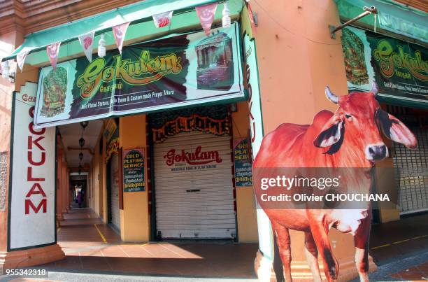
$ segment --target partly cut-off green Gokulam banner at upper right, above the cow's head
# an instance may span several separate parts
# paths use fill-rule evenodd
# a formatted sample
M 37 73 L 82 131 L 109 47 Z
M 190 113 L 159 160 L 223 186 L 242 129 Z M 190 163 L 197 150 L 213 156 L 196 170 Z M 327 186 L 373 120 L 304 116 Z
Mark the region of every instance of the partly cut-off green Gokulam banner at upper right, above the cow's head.
M 350 92 L 376 82 L 381 97 L 428 106 L 427 48 L 353 27 L 343 29 L 342 47 Z

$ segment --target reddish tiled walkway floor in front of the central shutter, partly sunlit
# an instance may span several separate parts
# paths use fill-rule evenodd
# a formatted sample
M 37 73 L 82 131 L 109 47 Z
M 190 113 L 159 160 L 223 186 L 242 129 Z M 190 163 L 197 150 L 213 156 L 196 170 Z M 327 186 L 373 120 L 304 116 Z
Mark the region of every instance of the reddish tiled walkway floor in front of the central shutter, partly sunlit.
M 255 278 L 253 265 L 257 244 L 124 244 L 120 236 L 101 223 L 90 209 L 72 209 L 64 218 L 58 232 L 58 244 L 66 258 L 42 267 L 62 271 L 85 269 L 131 274 Z

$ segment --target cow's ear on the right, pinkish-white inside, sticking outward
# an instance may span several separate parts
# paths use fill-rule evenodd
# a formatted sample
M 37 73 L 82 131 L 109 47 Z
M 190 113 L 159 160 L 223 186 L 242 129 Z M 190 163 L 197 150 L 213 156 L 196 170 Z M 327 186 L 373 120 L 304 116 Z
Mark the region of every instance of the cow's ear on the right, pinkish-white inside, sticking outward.
M 398 142 L 410 149 L 418 147 L 415 135 L 398 118 L 380 108 L 376 111 L 376 122 L 383 134 L 392 141 Z

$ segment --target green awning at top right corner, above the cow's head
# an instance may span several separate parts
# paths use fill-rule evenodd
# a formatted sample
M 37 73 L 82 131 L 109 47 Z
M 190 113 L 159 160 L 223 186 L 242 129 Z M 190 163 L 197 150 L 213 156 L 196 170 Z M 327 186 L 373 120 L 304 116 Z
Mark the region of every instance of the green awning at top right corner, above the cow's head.
M 390 0 L 334 0 L 341 20 L 350 20 L 361 14 L 364 6 L 376 6 L 376 27 L 428 43 L 428 13 L 409 8 Z M 368 15 L 353 25 L 374 27 L 374 15 Z

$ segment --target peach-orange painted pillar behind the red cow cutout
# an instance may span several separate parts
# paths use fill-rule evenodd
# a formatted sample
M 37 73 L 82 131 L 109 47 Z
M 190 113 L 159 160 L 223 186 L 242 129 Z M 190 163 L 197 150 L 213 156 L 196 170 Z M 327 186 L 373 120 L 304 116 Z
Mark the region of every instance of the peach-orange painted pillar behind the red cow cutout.
M 291 122 L 310 124 L 322 109 L 337 106 L 324 88 L 348 94 L 341 32 L 330 38 L 329 25 L 340 24 L 332 0 L 251 1 L 257 13 L 255 32 L 265 134 Z M 268 227 L 266 227 L 268 228 Z M 306 265 L 304 234 L 291 232 L 293 264 Z M 357 276 L 350 234 L 331 230 L 333 252 L 341 265 L 339 280 Z

